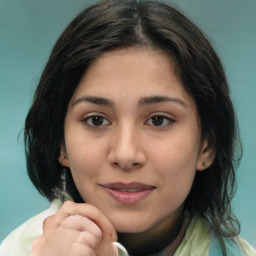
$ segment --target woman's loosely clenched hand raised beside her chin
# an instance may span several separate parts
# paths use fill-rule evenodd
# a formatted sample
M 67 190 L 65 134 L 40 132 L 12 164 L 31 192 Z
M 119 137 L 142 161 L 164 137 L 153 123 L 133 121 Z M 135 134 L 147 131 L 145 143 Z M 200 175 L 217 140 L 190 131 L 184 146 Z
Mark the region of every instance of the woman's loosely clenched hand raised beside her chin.
M 71 201 L 45 219 L 31 256 L 118 256 L 116 230 L 96 207 Z

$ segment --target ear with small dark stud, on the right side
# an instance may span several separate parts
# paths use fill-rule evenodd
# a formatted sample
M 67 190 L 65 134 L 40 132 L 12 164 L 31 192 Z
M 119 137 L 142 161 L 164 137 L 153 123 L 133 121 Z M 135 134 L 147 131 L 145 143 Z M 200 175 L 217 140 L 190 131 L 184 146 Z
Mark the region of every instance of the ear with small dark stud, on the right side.
M 197 159 L 197 171 L 204 171 L 209 168 L 215 158 L 215 151 L 210 146 L 208 137 L 205 137 Z

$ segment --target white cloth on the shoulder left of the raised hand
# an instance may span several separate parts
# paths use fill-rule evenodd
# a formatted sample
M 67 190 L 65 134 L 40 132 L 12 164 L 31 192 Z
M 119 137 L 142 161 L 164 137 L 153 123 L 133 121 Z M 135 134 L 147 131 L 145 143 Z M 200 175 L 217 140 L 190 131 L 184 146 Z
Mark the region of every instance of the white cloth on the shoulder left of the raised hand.
M 32 217 L 12 231 L 0 246 L 0 256 L 29 255 L 33 240 L 42 233 L 43 221 L 55 214 L 60 206 L 60 200 L 52 201 L 49 209 Z

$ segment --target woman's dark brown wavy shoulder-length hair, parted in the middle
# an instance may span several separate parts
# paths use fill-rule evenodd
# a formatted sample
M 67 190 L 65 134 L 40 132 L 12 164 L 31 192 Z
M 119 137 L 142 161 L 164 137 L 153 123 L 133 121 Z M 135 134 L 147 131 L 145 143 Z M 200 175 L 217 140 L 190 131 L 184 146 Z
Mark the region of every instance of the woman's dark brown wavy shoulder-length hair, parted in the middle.
M 168 54 L 195 100 L 202 138 L 208 136 L 215 160 L 207 170 L 197 172 L 185 207 L 209 222 L 225 254 L 223 236 L 239 233 L 231 211 L 239 137 L 229 87 L 219 57 L 203 33 L 181 12 L 164 3 L 101 1 L 68 25 L 52 50 L 27 115 L 29 177 L 42 195 L 53 199 L 62 172 L 58 156 L 64 118 L 76 86 L 90 63 L 102 53 L 135 46 Z M 82 200 L 71 177 L 68 191 L 75 201 Z

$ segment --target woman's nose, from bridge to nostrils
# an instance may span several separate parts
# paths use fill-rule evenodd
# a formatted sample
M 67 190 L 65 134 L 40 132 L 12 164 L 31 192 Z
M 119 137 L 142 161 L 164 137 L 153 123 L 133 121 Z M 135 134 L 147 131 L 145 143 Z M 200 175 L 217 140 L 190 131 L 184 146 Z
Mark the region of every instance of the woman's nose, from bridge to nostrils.
M 113 131 L 108 154 L 109 163 L 122 170 L 142 167 L 146 161 L 146 154 L 140 135 L 136 128 L 128 125 Z

